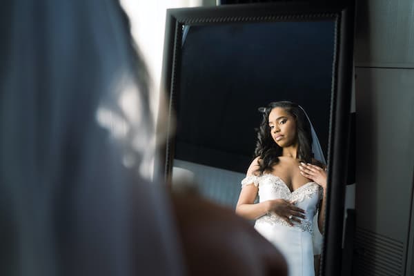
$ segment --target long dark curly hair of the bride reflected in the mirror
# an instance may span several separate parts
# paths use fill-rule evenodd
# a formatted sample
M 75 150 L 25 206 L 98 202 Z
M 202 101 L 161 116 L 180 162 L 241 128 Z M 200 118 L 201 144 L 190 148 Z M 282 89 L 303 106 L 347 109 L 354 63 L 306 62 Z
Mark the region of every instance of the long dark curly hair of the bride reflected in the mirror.
M 282 147 L 276 144 L 270 134 L 268 118 L 273 108 L 284 108 L 296 121 L 297 132 L 297 159 L 305 163 L 313 162 L 311 125 L 304 110 L 297 103 L 291 101 L 273 101 L 266 108 L 259 108 L 263 113 L 262 123 L 257 129 L 257 142 L 255 157 L 259 157 L 257 172 L 262 175 L 265 171 L 272 171 L 273 166 L 279 162 L 282 155 Z

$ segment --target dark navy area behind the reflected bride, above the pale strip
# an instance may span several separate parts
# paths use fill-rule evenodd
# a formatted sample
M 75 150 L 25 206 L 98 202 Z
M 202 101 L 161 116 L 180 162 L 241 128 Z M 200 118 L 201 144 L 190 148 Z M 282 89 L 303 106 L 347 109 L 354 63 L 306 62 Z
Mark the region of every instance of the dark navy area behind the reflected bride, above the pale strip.
M 326 157 L 333 21 L 186 28 L 175 158 L 246 172 L 262 120 L 257 108 L 281 100 L 306 110 Z

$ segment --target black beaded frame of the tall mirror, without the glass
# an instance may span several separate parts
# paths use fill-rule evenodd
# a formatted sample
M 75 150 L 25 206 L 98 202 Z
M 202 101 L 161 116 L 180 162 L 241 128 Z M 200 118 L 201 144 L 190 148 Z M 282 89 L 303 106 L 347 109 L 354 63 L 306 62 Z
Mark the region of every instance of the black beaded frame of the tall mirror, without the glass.
M 155 168 L 164 181 L 170 181 L 174 155 L 171 127 L 173 109 L 179 91 L 181 37 L 184 25 L 200 26 L 226 22 L 309 21 L 334 19 L 336 45 L 331 92 L 331 118 L 328 146 L 328 190 L 324 246 L 319 275 L 340 275 L 342 270 L 342 232 L 348 165 L 348 131 L 353 72 L 354 0 L 334 3 L 254 3 L 200 8 L 169 9 L 166 15 L 164 61 L 161 92 L 168 102 L 167 137 L 159 144 Z M 161 111 L 163 112 L 164 111 Z M 159 123 L 158 126 L 161 124 Z M 162 124 L 165 126 L 165 123 Z M 157 174 L 156 174 L 157 175 Z

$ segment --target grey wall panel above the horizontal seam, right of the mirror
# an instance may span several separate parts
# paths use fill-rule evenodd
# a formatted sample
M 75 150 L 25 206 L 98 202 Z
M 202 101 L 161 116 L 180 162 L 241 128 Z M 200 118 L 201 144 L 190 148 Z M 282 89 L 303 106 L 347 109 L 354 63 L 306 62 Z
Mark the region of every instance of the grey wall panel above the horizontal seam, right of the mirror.
M 414 1 L 356 2 L 355 65 L 414 68 Z

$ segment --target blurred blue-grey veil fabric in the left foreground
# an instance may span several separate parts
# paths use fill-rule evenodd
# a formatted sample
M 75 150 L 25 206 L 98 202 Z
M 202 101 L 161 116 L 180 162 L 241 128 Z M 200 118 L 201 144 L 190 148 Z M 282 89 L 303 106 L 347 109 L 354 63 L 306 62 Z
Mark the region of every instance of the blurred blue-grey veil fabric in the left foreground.
M 119 3 L 3 1 L 0 21 L 0 274 L 182 275 Z

